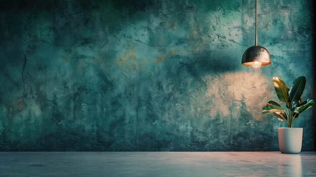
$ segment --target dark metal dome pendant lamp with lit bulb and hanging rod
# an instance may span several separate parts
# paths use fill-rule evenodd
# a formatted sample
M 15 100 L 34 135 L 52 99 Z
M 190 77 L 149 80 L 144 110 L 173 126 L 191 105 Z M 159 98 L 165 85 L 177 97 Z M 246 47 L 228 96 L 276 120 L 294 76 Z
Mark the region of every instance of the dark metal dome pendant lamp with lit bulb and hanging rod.
M 246 49 L 242 55 L 241 64 L 252 68 L 271 64 L 269 51 L 265 47 L 257 45 L 257 0 L 255 0 L 255 45 Z

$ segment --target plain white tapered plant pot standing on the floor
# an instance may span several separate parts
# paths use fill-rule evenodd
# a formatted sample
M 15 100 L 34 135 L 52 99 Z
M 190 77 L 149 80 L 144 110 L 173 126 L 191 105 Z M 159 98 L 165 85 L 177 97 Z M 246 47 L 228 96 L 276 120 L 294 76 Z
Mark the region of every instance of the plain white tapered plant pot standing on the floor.
M 303 128 L 279 128 L 279 149 L 285 154 L 297 154 L 302 149 Z

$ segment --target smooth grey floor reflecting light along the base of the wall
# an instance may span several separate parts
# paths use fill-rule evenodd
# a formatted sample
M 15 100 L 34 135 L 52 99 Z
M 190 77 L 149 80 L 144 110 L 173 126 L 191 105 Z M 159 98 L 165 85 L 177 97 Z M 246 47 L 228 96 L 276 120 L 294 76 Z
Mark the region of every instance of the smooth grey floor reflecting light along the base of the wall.
M 0 176 L 316 176 L 315 167 L 315 152 L 0 152 Z

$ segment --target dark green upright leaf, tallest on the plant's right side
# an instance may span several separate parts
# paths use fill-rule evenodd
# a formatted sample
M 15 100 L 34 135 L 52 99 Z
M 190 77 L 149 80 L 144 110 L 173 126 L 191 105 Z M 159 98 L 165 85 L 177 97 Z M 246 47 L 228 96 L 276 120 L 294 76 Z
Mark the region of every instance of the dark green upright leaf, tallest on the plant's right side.
M 292 87 L 289 91 L 292 102 L 298 102 L 305 89 L 306 78 L 304 76 L 298 77 L 293 81 Z

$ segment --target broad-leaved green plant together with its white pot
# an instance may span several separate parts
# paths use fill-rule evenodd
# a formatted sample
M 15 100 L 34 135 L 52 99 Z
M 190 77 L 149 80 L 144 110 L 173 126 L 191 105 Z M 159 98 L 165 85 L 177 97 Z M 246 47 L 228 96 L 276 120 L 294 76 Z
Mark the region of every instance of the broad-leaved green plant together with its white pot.
M 302 101 L 302 93 L 305 89 L 306 78 L 298 77 L 292 83 L 292 87 L 286 86 L 284 81 L 273 77 L 274 88 L 280 101 L 284 102 L 287 111 L 277 102 L 269 101 L 262 108 L 262 113 L 273 113 L 278 120 L 287 123 L 287 128 L 279 128 L 279 148 L 282 153 L 299 153 L 302 148 L 303 128 L 293 128 L 294 120 L 315 102 L 312 99 Z

